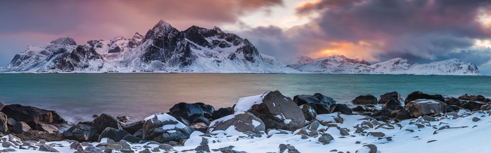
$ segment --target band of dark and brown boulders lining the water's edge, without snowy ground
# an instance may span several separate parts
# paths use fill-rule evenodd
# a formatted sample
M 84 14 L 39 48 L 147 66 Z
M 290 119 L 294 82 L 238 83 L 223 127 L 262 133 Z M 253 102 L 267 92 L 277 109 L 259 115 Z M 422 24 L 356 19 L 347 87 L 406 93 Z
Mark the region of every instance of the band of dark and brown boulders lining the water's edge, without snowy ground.
M 158 144 L 158 148 L 147 149 L 150 153 L 150 149 L 152 152 L 173 151 L 172 146 L 185 144 L 194 131 L 200 131 L 203 135 L 208 136 L 246 133 L 250 137 L 292 132 L 295 135 L 301 135 L 302 138 L 314 137 L 321 144 L 329 144 L 334 138 L 326 132 L 320 132 L 318 127 L 322 125 L 337 128 L 341 135 L 349 135 L 346 129 L 331 124 L 343 122 L 340 114 L 365 116 L 367 119 L 365 124 L 370 127 L 374 121 L 397 123 L 421 116 L 436 117 L 460 109 L 472 111 L 491 109 L 490 99 L 480 95 L 465 94 L 459 98 L 444 98 L 441 95 L 429 95 L 420 91 L 410 93 L 404 100 L 397 92 L 386 93 L 379 98 L 373 95 L 361 95 L 356 97 L 352 103 L 336 103 L 334 99 L 319 93 L 297 95 L 291 99 L 279 91 L 271 91 L 262 95 L 241 98 L 233 107 L 218 110 L 205 103 L 179 102 L 166 113 L 154 114 L 131 124 L 126 123 L 129 120 L 129 117 L 126 116 L 94 115 L 92 121 L 72 124 L 62 133 L 58 132 L 58 128 L 62 124 L 69 123 L 55 111 L 11 104 L 1 105 L 0 132 L 52 133 L 57 135 L 58 139 L 68 139 L 71 142 L 71 148 L 80 153 L 100 153 L 107 150 L 132 153 L 134 151 L 129 147 L 131 143 Z M 332 113 L 337 114 L 332 117 L 332 121 L 319 119 Z M 360 133 L 363 133 L 361 131 L 362 129 Z M 363 134 L 383 137 L 381 133 L 376 132 Z M 103 143 L 89 146 L 86 142 Z M 49 146 L 44 148 L 47 147 Z M 198 146 L 201 148 L 199 152 L 210 152 L 209 148 L 206 149 L 207 147 L 207 141 L 203 140 Z M 375 146 L 365 145 L 364 147 L 373 151 Z M 226 153 L 237 152 L 231 148 L 220 150 L 226 150 Z M 293 146 L 288 145 L 280 145 L 279 149 L 280 152 L 298 152 Z

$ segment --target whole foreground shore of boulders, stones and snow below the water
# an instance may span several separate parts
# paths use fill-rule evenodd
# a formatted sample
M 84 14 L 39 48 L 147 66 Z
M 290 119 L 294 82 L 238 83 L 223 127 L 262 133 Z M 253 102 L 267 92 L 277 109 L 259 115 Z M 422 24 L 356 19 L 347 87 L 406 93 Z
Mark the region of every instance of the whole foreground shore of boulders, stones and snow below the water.
M 54 110 L 0 109 L 0 152 L 18 153 L 462 153 L 485 150 L 479 139 L 491 135 L 490 99 L 419 91 L 352 104 L 271 91 L 219 109 L 180 102 L 134 123 L 100 114 L 73 124 Z

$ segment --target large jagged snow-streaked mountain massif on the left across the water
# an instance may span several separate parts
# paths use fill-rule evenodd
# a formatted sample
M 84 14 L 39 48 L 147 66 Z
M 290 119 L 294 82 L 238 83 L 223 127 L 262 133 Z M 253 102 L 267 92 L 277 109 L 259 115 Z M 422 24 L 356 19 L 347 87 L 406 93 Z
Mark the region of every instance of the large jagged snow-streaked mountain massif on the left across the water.
M 89 40 L 59 38 L 17 54 L 3 72 L 298 73 L 260 54 L 247 40 L 220 28 L 179 31 L 160 21 L 142 36 Z

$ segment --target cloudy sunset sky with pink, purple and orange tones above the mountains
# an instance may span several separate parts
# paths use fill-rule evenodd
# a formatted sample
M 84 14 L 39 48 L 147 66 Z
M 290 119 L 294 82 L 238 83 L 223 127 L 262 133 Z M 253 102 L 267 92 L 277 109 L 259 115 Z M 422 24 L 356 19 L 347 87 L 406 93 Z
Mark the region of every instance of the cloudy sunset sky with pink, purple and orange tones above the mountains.
M 10 0 L 0 66 L 28 45 L 132 37 L 159 20 L 239 34 L 283 62 L 345 55 L 371 63 L 458 58 L 491 75 L 491 0 Z

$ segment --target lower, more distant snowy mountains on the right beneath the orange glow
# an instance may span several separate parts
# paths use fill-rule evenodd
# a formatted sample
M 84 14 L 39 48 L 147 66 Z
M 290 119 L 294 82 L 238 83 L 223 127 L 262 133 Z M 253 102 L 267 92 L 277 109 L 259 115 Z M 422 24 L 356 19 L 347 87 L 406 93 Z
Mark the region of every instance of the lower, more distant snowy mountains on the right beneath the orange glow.
M 425 64 L 413 63 L 403 58 L 394 58 L 370 64 L 360 59 L 333 55 L 321 60 L 289 66 L 303 72 L 323 74 L 481 75 L 474 64 L 455 58 Z

